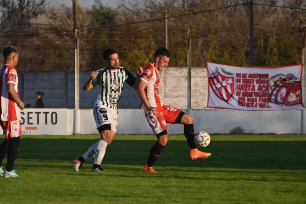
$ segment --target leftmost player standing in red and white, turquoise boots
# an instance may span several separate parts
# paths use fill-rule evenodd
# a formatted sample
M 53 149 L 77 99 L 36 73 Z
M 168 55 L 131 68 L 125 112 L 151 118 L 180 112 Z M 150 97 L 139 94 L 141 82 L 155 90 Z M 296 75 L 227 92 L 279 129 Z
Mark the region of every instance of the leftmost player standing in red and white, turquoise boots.
M 3 49 L 4 65 L 0 67 L 0 124 L 5 135 L 5 140 L 0 146 L 0 176 L 4 177 L 19 177 L 13 170 L 19 151 L 19 137 L 21 137 L 20 109 L 24 109 L 24 103 L 18 96 L 18 75 L 15 68 L 18 56 L 15 47 L 6 46 Z M 7 162 L 4 171 L 2 161 L 6 153 Z

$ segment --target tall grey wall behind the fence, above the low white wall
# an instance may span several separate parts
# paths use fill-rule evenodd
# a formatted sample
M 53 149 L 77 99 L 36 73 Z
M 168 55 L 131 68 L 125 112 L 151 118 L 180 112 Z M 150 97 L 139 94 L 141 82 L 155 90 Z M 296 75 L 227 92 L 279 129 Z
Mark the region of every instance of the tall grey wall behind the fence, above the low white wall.
M 134 76 L 136 71 L 131 71 Z M 80 72 L 80 108 L 91 109 L 101 91 L 94 87 L 83 92 L 90 71 Z M 74 72 L 26 72 L 19 73 L 19 95 L 25 104 L 35 106 L 36 92 L 44 92 L 46 108 L 74 109 Z M 164 104 L 180 109 L 187 108 L 187 67 L 167 67 L 160 72 L 161 93 Z M 203 67 L 191 69 L 191 108 L 203 109 L 207 104 L 207 71 Z M 119 103 L 121 109 L 138 109 L 141 100 L 136 90 L 125 83 Z

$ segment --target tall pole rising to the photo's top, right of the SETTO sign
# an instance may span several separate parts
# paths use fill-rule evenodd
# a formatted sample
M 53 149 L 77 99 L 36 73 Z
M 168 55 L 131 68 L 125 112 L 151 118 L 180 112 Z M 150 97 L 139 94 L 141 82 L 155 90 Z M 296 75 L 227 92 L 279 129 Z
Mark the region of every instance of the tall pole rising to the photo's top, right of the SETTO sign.
M 73 0 L 74 29 L 74 134 L 80 134 L 80 98 L 79 98 L 79 40 L 77 26 L 78 0 Z

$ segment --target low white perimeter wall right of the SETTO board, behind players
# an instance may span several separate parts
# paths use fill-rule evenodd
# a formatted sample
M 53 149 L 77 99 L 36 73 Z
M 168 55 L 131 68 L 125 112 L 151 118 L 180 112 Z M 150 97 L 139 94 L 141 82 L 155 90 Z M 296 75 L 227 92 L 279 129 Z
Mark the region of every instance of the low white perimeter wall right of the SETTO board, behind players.
M 186 111 L 185 111 L 186 112 Z M 210 134 L 301 134 L 305 111 L 239 111 L 225 109 L 190 110 L 194 128 Z M 143 110 L 120 109 L 117 134 L 153 134 Z M 183 125 L 167 124 L 168 134 L 183 134 Z M 81 134 L 97 134 L 92 110 L 81 110 Z M 304 133 L 305 134 L 305 133 Z

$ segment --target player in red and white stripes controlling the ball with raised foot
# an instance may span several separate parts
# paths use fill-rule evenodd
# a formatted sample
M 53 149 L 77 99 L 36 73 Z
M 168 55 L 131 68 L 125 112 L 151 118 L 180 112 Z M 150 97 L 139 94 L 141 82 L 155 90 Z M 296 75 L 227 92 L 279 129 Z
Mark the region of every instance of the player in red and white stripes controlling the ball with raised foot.
M 157 137 L 157 142 L 152 146 L 144 172 L 157 173 L 153 164 L 160 156 L 161 151 L 168 142 L 166 123 L 184 124 L 184 135 L 190 148 L 190 158 L 207 158 L 211 153 L 199 151 L 194 143 L 193 117 L 185 114 L 173 106 L 164 105 L 161 100 L 159 71 L 168 66 L 170 52 L 164 47 L 155 51 L 154 60 L 144 68 L 140 77 L 137 92 L 145 105 L 145 117 Z

